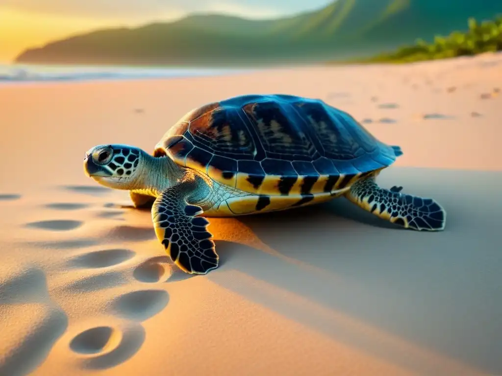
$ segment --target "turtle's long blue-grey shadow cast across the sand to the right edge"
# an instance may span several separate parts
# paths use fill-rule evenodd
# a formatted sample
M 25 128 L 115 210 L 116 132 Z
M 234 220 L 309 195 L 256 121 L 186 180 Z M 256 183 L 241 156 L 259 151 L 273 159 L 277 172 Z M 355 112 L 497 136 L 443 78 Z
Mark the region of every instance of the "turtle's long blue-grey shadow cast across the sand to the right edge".
M 425 172 L 429 180 L 423 179 Z M 221 267 L 207 278 L 420 374 L 453 374 L 448 364 L 459 359 L 496 373 L 500 357 L 492 343 L 499 330 L 492 307 L 499 295 L 494 288 L 499 254 L 491 218 L 499 205 L 490 198 L 497 195 L 500 174 L 477 173 L 490 181 L 482 189 L 461 185 L 471 174 L 396 168 L 382 178 L 390 185 L 399 177 L 407 192 L 438 200 L 451 219 L 444 232 L 397 231 L 402 228 L 344 198 L 238 217 L 266 247 L 257 247 L 256 239 L 245 245 L 216 241 Z M 465 200 L 469 195 L 473 199 Z M 462 316 L 455 316 L 460 311 Z M 370 330 L 354 329 L 345 319 Z M 495 326 L 477 328 L 480 319 Z M 474 327 L 479 335 L 473 337 Z M 373 329 L 381 334 L 370 334 Z M 392 344 L 394 336 L 405 345 Z M 438 363 L 424 357 L 423 349 L 433 351 Z

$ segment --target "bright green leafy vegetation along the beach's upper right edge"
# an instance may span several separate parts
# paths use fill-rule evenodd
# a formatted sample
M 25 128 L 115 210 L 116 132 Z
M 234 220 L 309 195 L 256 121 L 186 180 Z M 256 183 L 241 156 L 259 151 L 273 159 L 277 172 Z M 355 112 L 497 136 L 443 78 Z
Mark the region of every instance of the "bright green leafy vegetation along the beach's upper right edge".
M 492 21 L 468 20 L 468 31 L 454 31 L 447 37 L 435 36 L 432 43 L 417 39 L 413 46 L 396 52 L 380 54 L 366 62 L 410 63 L 415 61 L 472 56 L 483 52 L 502 51 L 502 16 Z

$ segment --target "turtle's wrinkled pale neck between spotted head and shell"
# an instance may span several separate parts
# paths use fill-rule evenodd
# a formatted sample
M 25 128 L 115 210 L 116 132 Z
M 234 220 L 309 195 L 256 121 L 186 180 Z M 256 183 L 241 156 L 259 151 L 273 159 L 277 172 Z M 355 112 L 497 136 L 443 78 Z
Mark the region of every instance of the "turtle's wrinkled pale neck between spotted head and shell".
M 158 197 L 185 172 L 168 156 L 154 157 L 142 152 L 141 157 L 138 177 L 130 188 L 135 193 Z

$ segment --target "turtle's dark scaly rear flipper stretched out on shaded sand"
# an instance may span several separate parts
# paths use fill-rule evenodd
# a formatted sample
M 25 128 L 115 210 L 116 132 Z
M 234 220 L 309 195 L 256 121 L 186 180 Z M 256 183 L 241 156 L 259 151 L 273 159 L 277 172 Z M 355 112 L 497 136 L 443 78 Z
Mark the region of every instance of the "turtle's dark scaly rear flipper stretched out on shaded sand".
M 400 193 L 402 187 L 386 190 L 374 178 L 356 181 L 345 197 L 382 219 L 414 230 L 444 230 L 446 212 L 432 199 Z

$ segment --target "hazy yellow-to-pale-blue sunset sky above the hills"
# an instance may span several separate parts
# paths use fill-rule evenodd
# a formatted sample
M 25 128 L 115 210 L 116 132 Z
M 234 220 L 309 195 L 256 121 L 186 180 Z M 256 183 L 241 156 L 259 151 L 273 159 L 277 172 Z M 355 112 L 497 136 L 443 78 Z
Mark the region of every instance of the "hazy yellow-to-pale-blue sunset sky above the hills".
M 190 13 L 252 19 L 320 9 L 332 0 L 0 0 L 0 63 L 30 47 L 94 29 L 172 21 Z

